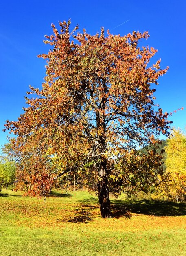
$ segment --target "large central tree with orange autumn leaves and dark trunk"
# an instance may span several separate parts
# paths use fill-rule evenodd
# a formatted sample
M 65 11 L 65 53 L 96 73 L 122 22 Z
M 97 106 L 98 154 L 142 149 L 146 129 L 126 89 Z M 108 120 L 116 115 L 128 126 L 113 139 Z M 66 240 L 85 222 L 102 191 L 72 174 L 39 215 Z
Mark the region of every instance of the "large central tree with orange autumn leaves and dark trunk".
M 120 36 L 107 31 L 105 36 L 101 28 L 91 36 L 85 29 L 76 34 L 78 27 L 70 32 L 70 21 L 59 25 L 61 31 L 52 25 L 54 34 L 44 41 L 53 49 L 39 56 L 47 62 L 42 89 L 30 87 L 27 94 L 33 98 L 26 97 L 24 114 L 5 126 L 18 136 L 14 147 L 22 155 L 31 152 L 30 168 L 20 168 L 22 177 L 35 175 L 35 156 L 38 161 L 42 156 L 46 161 L 38 173 L 50 162 L 50 177 L 71 173 L 94 183 L 101 216 L 109 218 L 109 186 L 118 176 L 120 182 L 113 186 L 125 180 L 120 159 L 130 162 L 137 145 L 168 135 L 168 113 L 155 107 L 151 88 L 168 67 L 161 70 L 160 60 L 149 65 L 157 50 L 138 45 L 149 37 L 147 32 Z

